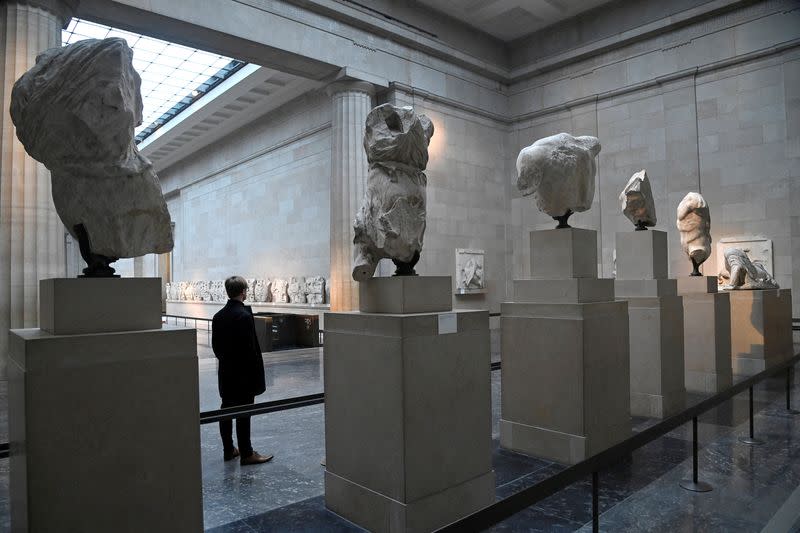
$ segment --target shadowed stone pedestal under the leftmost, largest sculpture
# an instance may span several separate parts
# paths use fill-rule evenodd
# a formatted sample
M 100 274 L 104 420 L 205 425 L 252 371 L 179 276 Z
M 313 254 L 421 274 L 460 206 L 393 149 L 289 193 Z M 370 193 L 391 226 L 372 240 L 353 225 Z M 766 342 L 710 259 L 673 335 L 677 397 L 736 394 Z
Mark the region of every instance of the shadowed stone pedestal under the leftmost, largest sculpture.
M 155 288 L 149 318 L 159 327 L 120 324 L 127 301 L 103 292 L 114 283 L 127 294 Z M 202 531 L 195 331 L 160 327 L 159 283 L 44 280 L 41 293 L 54 297 L 43 298 L 42 316 L 85 318 L 109 306 L 117 316 L 93 323 L 118 329 L 75 333 L 86 324 L 56 320 L 50 331 L 11 331 L 13 531 Z

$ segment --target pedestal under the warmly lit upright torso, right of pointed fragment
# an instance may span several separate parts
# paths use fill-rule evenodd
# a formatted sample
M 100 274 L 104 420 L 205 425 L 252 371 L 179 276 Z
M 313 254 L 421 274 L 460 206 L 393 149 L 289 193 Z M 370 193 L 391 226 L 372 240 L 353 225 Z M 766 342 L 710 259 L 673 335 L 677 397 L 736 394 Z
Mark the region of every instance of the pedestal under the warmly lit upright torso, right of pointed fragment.
M 715 276 L 678 278 L 683 297 L 683 357 L 686 389 L 715 393 L 733 383 L 731 303 L 717 292 Z

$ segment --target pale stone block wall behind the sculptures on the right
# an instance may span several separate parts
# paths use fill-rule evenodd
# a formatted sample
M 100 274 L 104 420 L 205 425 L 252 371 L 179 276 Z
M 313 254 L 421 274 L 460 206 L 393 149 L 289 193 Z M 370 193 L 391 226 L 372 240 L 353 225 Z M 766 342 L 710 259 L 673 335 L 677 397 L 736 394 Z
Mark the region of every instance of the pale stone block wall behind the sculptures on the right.
M 585 21 L 571 23 L 575 31 Z M 600 138 L 595 205 L 571 219 L 575 226 L 598 230 L 600 275 L 612 275 L 615 233 L 632 230 L 620 214 L 618 194 L 634 172 L 646 168 L 658 210 L 655 229 L 669 233 L 672 276 L 691 269 L 680 252 L 675 210 L 687 192 L 699 191 L 711 207 L 714 246 L 723 237 L 772 239 L 776 280 L 800 294 L 796 2 L 740 3 L 596 54 L 586 46 L 552 53 L 566 59 L 562 66 L 510 88 L 516 120 L 509 153 L 513 160 L 522 147 L 560 131 Z M 512 194 L 513 275 L 524 277 L 527 233 L 553 222 L 531 199 Z M 704 273 L 716 275 L 718 269 L 712 253 Z M 798 314 L 800 298 L 795 298 Z

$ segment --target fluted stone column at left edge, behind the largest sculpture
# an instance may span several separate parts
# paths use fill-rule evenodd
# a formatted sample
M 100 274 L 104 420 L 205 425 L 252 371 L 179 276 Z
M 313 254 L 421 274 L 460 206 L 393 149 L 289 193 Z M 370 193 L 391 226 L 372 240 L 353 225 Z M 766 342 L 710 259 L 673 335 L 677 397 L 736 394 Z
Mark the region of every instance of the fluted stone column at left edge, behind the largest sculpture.
M 8 109 L 14 82 L 36 56 L 61 45 L 61 29 L 77 1 L 0 1 L 0 379 L 5 379 L 9 328 L 38 324 L 39 280 L 64 276 L 65 229 L 50 192 L 50 172 L 25 153 Z

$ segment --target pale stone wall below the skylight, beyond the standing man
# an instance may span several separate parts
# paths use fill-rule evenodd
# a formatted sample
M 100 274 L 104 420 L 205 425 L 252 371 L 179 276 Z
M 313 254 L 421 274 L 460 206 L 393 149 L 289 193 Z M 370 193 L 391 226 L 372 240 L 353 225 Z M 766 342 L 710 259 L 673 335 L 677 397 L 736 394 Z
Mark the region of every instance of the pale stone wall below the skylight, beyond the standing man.
M 172 279 L 328 277 L 330 149 L 314 91 L 162 171 Z

